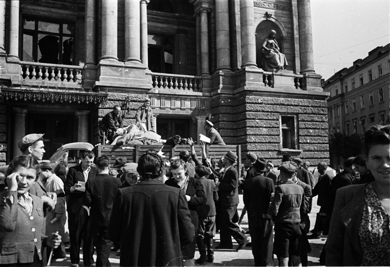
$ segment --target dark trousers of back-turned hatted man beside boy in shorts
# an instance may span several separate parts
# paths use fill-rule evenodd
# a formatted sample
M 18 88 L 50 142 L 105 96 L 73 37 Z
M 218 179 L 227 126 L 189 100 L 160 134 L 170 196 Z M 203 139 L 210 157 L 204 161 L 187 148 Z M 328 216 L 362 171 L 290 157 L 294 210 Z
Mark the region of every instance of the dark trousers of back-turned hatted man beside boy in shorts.
M 273 266 L 273 220 L 248 217 L 254 266 Z

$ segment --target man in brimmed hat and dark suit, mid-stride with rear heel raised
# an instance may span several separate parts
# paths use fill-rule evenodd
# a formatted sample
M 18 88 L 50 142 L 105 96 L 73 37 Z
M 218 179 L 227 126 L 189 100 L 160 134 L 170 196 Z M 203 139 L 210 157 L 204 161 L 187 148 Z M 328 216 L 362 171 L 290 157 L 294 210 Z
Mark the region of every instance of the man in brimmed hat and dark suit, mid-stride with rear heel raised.
M 232 222 L 238 206 L 238 173 L 234 168 L 237 161 L 237 155 L 229 151 L 223 158 L 225 173 L 218 183 L 220 215 L 220 244 L 217 249 L 232 249 L 232 236 L 238 243 L 236 251 L 244 248 L 249 239 L 240 231 L 237 224 Z

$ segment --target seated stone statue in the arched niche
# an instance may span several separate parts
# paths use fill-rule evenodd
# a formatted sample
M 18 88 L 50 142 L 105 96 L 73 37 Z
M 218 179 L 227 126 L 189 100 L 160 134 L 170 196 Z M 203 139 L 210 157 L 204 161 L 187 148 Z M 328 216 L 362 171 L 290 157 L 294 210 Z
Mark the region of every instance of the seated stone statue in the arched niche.
M 264 38 L 263 46 L 261 47 L 261 65 L 265 71 L 283 70 L 288 65 L 286 56 L 280 53 L 275 36 L 276 31 L 271 30 L 268 37 Z

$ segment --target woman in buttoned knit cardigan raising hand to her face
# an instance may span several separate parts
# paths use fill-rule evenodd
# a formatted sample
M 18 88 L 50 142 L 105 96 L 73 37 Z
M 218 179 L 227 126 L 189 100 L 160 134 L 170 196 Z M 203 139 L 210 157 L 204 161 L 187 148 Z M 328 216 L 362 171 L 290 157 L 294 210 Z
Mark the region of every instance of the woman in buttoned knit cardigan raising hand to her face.
M 7 169 L 8 190 L 0 194 L 0 266 L 42 266 L 41 241 L 50 248 L 61 243 L 57 233 L 41 234 L 42 200 L 28 192 L 39 175 L 39 163 L 27 155 Z

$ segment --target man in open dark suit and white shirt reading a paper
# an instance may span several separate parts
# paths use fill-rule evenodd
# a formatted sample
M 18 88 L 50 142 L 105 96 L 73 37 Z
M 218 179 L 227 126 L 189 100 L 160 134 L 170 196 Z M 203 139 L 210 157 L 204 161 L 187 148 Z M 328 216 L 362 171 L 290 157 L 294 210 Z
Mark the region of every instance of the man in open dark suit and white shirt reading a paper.
M 67 211 L 72 267 L 78 267 L 78 262 L 80 261 L 81 239 L 83 240 L 84 266 L 94 264 L 94 246 L 92 244 L 90 219 L 87 209 L 82 207 L 85 183 L 88 179 L 95 178 L 97 173 L 96 167 L 91 166 L 94 158 L 95 154 L 92 151 L 84 151 L 81 155 L 81 164 L 69 168 L 64 184 L 65 193 L 69 195 Z

